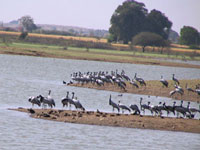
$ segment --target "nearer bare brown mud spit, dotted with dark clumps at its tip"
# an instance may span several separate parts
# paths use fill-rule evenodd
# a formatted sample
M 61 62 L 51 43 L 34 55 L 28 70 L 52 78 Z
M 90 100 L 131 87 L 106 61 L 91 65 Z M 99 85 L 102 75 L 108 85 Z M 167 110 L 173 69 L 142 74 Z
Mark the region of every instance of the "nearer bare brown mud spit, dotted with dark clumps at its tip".
M 200 133 L 200 120 L 196 119 L 161 118 L 154 116 L 56 109 L 30 110 L 18 108 L 9 110 L 29 113 L 33 118 L 68 123 Z

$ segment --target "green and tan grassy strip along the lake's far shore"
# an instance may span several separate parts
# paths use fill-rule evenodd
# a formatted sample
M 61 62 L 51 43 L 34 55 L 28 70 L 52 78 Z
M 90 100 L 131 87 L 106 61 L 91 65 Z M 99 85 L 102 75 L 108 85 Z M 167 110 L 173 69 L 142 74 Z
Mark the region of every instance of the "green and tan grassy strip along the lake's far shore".
M 153 58 L 168 58 L 165 54 L 152 54 L 130 51 L 116 51 L 104 49 L 87 49 L 78 47 L 65 47 L 43 44 L 10 43 L 5 45 L 0 43 L 0 54 L 29 55 L 39 57 L 55 57 L 64 59 L 96 60 L 119 63 L 134 63 L 147 65 L 161 65 L 186 68 L 200 68 L 199 65 L 159 61 Z M 170 58 L 177 58 L 171 56 Z M 181 59 L 181 57 L 178 56 Z

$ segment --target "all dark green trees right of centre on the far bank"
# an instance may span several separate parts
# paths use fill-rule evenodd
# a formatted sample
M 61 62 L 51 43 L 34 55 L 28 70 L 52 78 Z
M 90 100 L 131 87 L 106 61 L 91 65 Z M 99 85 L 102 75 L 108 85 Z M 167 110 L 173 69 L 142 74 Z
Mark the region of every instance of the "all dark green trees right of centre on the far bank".
M 109 42 L 123 42 L 143 46 L 167 46 L 172 22 L 161 11 L 148 10 L 144 3 L 126 0 L 113 13 L 109 28 Z M 198 31 L 184 26 L 180 32 L 180 44 L 199 45 Z

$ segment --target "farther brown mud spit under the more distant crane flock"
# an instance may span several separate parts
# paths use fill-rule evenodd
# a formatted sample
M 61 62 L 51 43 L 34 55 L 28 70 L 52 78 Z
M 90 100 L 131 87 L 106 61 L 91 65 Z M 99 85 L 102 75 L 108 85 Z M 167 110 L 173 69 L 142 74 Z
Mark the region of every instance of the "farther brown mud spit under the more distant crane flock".
M 175 93 L 174 95 L 170 96 L 170 91 L 174 90 L 174 82 L 172 80 L 168 80 L 169 87 L 163 87 L 160 81 L 152 80 L 152 81 L 146 81 L 146 87 L 133 87 L 130 83 L 126 82 L 126 89 L 123 90 L 119 88 L 117 85 L 105 83 L 104 86 L 98 86 L 97 84 L 92 83 L 85 83 L 85 84 L 79 84 L 74 83 L 70 84 L 70 86 L 76 86 L 76 87 L 84 87 L 84 88 L 93 88 L 98 90 L 108 90 L 108 91 L 114 91 L 114 92 L 120 92 L 120 93 L 133 93 L 133 94 L 142 94 L 142 95 L 149 95 L 149 96 L 161 96 L 161 97 L 169 97 L 176 100 L 186 100 L 186 101 L 193 101 L 193 102 L 200 102 L 200 95 L 198 95 L 196 92 L 189 92 L 185 88 L 186 83 L 189 87 L 195 89 L 195 86 L 200 83 L 200 79 L 194 79 L 194 80 L 180 80 L 180 86 L 184 90 L 184 94 L 180 95 L 179 93 Z

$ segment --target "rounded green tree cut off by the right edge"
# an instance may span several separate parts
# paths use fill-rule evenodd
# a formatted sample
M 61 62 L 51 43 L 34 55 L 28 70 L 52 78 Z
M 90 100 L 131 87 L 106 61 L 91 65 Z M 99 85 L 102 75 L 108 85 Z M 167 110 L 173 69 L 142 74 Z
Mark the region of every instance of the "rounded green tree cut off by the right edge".
M 185 45 L 199 45 L 200 36 L 199 32 L 190 26 L 184 26 L 180 32 L 180 44 Z

